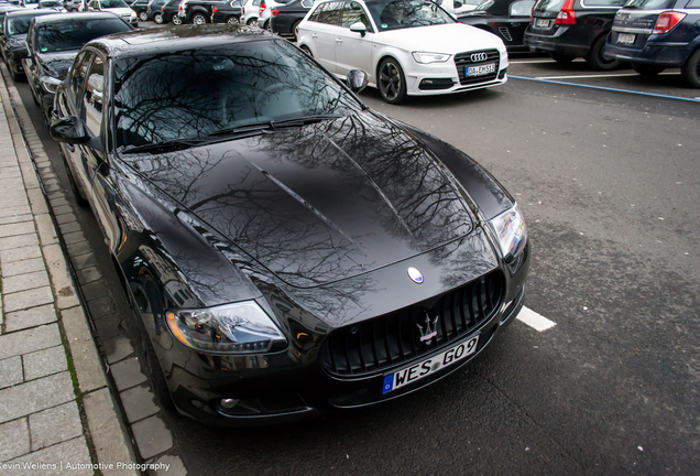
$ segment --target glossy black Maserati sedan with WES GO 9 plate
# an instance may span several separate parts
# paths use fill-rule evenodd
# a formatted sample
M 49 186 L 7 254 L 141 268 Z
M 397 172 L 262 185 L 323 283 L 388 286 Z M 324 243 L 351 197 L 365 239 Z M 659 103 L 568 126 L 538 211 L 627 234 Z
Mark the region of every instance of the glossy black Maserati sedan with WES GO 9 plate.
M 521 310 L 513 197 L 276 35 L 99 39 L 56 94 L 51 133 L 166 407 L 245 425 L 391 400 L 459 368 Z

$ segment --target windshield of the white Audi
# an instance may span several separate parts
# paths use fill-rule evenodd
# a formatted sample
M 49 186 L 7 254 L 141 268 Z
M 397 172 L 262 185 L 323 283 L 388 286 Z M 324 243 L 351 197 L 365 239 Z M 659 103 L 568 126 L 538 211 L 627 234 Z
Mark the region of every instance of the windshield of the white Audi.
M 379 31 L 400 30 L 413 26 L 456 23 L 456 21 L 431 1 L 394 0 L 368 1 L 367 8 Z

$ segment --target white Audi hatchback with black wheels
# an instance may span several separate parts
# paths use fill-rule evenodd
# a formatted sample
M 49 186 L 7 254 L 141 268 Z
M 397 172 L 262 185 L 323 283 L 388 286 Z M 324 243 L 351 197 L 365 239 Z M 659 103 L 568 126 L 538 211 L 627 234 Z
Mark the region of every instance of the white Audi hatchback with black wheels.
M 428 0 L 317 3 L 299 24 L 298 46 L 337 76 L 363 69 L 391 104 L 507 80 L 503 42 Z

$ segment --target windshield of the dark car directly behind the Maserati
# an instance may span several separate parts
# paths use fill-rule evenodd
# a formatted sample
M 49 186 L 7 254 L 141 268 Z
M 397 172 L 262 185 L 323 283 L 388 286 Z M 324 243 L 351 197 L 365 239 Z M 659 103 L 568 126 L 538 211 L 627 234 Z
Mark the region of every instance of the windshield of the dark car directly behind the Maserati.
M 72 20 L 41 25 L 36 33 L 36 51 L 52 53 L 80 50 L 96 37 L 130 31 L 119 18 L 103 20 Z

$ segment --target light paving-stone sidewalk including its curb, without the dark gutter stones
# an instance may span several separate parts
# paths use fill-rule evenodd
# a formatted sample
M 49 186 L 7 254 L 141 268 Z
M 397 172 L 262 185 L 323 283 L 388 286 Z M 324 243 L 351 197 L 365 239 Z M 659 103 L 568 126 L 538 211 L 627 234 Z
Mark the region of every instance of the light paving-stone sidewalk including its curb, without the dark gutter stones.
M 138 475 L 34 170 L 48 158 L 32 164 L 39 138 L 0 96 L 0 475 Z

